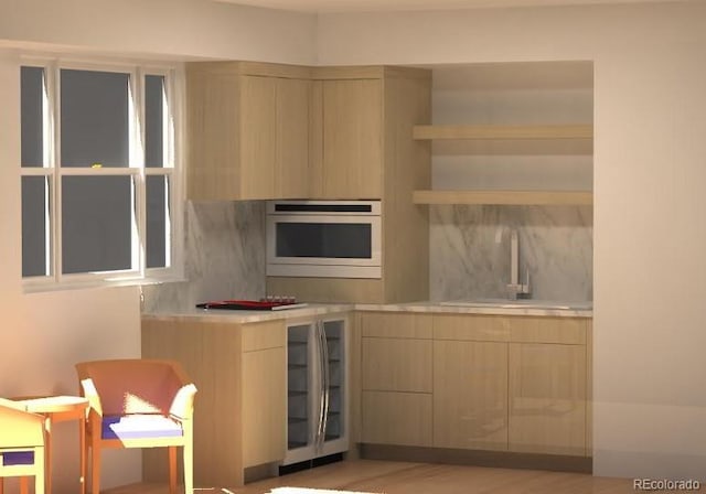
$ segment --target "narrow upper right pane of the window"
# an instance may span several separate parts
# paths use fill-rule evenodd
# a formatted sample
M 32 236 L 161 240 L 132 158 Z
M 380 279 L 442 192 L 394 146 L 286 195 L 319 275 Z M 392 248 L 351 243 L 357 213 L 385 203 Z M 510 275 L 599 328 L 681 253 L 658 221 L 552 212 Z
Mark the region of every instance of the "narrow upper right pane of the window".
M 145 77 L 145 165 L 164 167 L 164 76 Z

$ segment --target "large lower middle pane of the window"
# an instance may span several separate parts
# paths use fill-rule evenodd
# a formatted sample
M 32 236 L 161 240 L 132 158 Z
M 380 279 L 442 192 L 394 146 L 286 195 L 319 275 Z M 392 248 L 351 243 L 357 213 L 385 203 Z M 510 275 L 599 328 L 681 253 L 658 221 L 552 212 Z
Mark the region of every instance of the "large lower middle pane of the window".
M 64 273 L 132 268 L 132 179 L 62 179 Z

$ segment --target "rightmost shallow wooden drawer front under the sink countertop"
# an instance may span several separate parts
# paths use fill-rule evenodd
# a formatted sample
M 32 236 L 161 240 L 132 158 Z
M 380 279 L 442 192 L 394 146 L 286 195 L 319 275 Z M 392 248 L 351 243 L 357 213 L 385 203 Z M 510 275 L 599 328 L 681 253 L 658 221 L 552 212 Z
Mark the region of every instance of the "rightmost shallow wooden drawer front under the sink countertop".
M 586 344 L 588 319 L 509 318 L 511 339 L 518 343 Z

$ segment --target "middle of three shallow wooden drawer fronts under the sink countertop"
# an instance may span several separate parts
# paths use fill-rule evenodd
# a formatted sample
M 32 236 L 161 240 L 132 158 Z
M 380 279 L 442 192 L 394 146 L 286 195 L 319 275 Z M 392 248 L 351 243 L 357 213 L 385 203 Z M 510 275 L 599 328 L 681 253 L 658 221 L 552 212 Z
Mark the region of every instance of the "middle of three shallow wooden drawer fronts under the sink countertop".
M 509 342 L 509 319 L 502 315 L 435 315 L 435 340 Z

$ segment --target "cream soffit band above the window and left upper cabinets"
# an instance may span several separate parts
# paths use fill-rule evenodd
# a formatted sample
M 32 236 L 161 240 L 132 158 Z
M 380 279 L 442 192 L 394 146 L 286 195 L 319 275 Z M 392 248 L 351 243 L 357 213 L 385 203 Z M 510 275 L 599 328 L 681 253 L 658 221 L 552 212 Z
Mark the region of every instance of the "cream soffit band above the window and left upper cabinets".
M 210 0 L 3 0 L 0 42 L 148 56 L 311 63 L 315 17 Z M 0 44 L 1 45 L 1 44 Z

